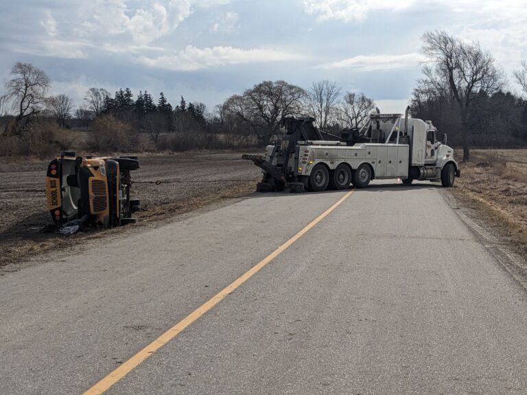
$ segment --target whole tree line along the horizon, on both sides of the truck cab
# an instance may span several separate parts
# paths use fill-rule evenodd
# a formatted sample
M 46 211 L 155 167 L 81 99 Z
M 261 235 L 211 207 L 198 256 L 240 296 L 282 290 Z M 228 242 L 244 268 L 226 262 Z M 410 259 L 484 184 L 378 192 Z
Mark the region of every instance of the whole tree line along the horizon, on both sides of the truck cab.
M 421 49 L 428 62 L 410 99 L 414 117 L 430 119 L 447 132 L 465 160 L 473 146 L 527 143 L 527 101 L 508 90 L 491 53 L 442 30 L 423 34 Z M 512 77 L 526 95 L 527 63 Z M 71 145 L 69 128 L 79 127 L 90 131 L 86 149 L 96 151 L 137 150 L 145 138 L 152 149 L 262 146 L 280 135 L 283 117 L 313 117 L 318 128 L 338 134 L 360 127 L 375 110 L 373 99 L 342 92 L 329 80 L 308 88 L 283 80 L 260 82 L 212 110 L 183 96 L 172 106 L 163 92 L 153 97 L 146 90 L 134 94 L 121 88 L 112 95 L 95 87 L 74 109 L 67 95 L 47 96 L 50 86 L 45 72 L 32 64 L 14 65 L 0 95 L 0 154 L 17 149 L 42 154 L 43 146 Z

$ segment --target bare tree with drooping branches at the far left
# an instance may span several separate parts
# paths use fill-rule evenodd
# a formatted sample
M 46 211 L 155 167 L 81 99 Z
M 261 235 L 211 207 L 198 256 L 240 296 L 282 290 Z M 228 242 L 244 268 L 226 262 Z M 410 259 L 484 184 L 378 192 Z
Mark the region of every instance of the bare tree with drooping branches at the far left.
M 12 78 L 5 82 L 5 97 L 12 102 L 15 111 L 17 133 L 21 133 L 24 119 L 38 114 L 45 103 L 49 78 L 44 71 L 31 63 L 17 62 L 11 69 Z

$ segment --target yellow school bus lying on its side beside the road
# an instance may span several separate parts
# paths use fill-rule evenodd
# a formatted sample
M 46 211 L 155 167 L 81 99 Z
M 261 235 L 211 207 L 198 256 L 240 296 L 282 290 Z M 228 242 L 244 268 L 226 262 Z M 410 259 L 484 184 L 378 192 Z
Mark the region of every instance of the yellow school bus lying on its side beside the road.
M 47 208 L 56 226 L 119 226 L 135 222 L 139 200 L 130 197 L 136 156 L 75 157 L 62 152 L 47 167 Z

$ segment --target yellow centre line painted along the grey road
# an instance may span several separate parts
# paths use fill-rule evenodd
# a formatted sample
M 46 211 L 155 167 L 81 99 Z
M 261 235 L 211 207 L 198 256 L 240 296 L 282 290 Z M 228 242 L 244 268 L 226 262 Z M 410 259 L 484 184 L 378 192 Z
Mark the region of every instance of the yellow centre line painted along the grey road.
M 180 322 L 172 326 L 172 328 L 169 328 L 168 331 L 163 333 L 161 336 L 159 336 L 157 339 L 155 339 L 152 343 L 148 344 L 145 348 L 137 352 L 137 354 L 133 355 L 128 361 L 125 361 L 122 363 L 119 368 L 113 370 L 113 372 L 110 372 L 107 376 L 104 377 L 101 381 L 99 381 L 97 384 L 93 385 L 89 390 L 84 392 L 84 395 L 100 395 L 104 394 L 112 385 L 117 383 L 117 381 L 121 380 L 126 374 L 130 373 L 134 368 L 136 368 L 141 362 L 145 361 L 150 355 L 154 354 L 159 348 L 165 346 L 170 340 L 174 339 L 183 329 L 187 328 L 190 324 L 192 324 L 194 321 L 198 320 L 204 313 L 207 313 L 210 309 L 212 309 L 216 304 L 221 302 L 227 295 L 231 294 L 237 287 L 242 285 L 246 282 L 249 278 L 254 276 L 259 270 L 261 270 L 262 267 L 266 266 L 270 261 L 272 261 L 274 258 L 279 256 L 281 252 L 285 251 L 288 247 L 292 245 L 296 240 L 300 239 L 305 233 L 307 233 L 311 228 L 313 228 L 318 222 L 322 221 L 331 211 L 335 210 L 337 206 L 339 206 L 344 200 L 346 200 L 349 195 L 351 195 L 353 191 L 349 191 L 341 197 L 337 202 L 335 202 L 331 207 L 329 207 L 324 213 L 318 215 L 312 222 L 309 222 L 305 228 L 300 230 L 296 235 L 291 237 L 288 241 L 285 241 L 279 248 L 274 250 L 271 254 L 266 256 L 263 260 L 261 260 L 257 265 L 253 266 L 248 270 L 248 272 L 242 274 L 237 280 L 234 280 L 231 285 L 228 285 L 224 289 L 222 289 L 218 294 L 215 294 L 211 299 L 209 299 L 207 302 L 202 304 L 198 309 L 192 311 L 187 317 L 183 318 Z

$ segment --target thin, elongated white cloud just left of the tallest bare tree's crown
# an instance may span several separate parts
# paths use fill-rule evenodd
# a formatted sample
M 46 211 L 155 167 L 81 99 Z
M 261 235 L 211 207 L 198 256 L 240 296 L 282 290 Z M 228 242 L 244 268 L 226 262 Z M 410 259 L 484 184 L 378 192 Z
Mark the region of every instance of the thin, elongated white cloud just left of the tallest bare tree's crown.
M 353 58 L 320 64 L 320 69 L 358 69 L 362 71 L 410 69 L 418 67 L 426 58 L 419 53 L 403 55 L 359 55 Z

